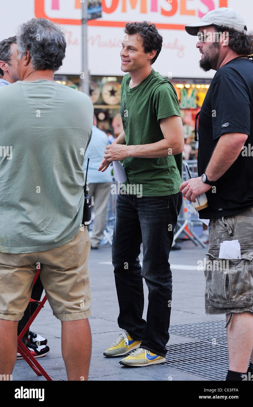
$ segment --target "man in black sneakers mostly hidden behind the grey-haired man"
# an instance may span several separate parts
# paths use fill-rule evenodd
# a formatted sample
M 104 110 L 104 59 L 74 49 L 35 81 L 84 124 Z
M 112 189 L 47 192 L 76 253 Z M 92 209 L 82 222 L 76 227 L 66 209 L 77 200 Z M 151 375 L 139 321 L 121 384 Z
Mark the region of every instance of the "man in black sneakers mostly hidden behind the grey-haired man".
M 19 81 L 20 78 L 17 74 L 17 60 L 17 37 L 13 36 L 7 39 L 3 39 L 0 42 L 0 74 L 2 77 L 0 79 L 0 88 Z M 38 276 L 33 286 L 31 298 L 35 301 L 39 301 L 41 299 L 43 290 L 44 287 L 41 283 L 40 277 Z M 17 336 L 20 335 L 31 315 L 33 315 L 33 313 L 35 312 L 37 306 L 38 303 L 36 302 L 28 304 L 26 310 L 24 311 L 24 316 L 18 322 Z M 24 342 L 25 346 L 35 358 L 44 357 L 49 352 L 49 347 L 46 346 L 48 340 L 41 335 L 32 332 L 30 330 L 30 327 L 28 327 L 28 329 L 26 330 L 26 333 L 22 338 L 22 342 Z M 17 359 L 23 359 L 19 352 L 17 352 Z

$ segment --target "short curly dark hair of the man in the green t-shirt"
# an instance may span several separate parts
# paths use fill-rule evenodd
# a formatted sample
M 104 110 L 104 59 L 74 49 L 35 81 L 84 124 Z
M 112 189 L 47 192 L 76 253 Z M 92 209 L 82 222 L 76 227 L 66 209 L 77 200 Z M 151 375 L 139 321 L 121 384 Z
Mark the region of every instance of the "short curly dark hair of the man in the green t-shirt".
M 161 44 L 163 42 L 163 37 L 159 34 L 155 24 L 147 21 L 126 23 L 124 33 L 128 35 L 139 34 L 142 37 L 145 53 L 156 50 L 154 58 L 151 59 L 152 65 L 161 51 Z

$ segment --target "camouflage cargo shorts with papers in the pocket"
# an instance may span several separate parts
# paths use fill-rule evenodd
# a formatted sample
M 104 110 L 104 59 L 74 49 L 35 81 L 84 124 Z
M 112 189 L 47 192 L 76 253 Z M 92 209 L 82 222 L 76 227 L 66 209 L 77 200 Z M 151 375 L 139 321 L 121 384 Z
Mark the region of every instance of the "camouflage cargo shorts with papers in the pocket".
M 236 239 L 241 259 L 220 259 L 220 243 Z M 210 220 L 206 256 L 206 313 L 253 312 L 253 208 Z

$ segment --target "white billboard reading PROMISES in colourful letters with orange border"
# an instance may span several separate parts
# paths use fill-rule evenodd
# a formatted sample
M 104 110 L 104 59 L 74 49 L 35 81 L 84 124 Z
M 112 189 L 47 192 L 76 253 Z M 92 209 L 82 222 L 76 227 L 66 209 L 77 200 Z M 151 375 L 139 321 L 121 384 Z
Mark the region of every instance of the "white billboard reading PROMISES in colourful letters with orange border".
M 0 38 L 14 35 L 17 26 L 27 20 L 47 18 L 60 24 L 67 42 L 66 57 L 60 74 L 81 72 L 81 1 L 80 0 L 12 0 L 3 2 Z M 91 5 L 91 4 L 90 4 Z M 93 4 L 94 5 L 94 4 Z M 215 71 L 199 68 L 197 37 L 188 35 L 185 24 L 199 21 L 210 10 L 231 7 L 253 28 L 251 0 L 102 0 L 102 18 L 88 21 L 89 71 L 92 75 L 118 76 L 120 49 L 126 22 L 154 22 L 163 36 L 161 53 L 153 68 L 170 78 L 212 78 Z M 96 7 L 91 7 L 93 11 Z

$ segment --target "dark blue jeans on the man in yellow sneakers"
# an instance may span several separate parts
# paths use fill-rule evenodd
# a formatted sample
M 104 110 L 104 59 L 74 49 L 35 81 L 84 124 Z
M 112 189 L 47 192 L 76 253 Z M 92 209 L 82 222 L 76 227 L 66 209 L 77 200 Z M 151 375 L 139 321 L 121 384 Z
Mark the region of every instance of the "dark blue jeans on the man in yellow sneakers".
M 112 263 L 120 307 L 118 324 L 141 347 L 166 355 L 170 338 L 172 274 L 168 262 L 182 195 L 136 197 L 118 195 L 113 231 Z M 143 243 L 143 264 L 139 261 Z M 148 286 L 148 311 L 144 309 L 143 278 Z

